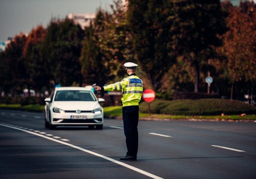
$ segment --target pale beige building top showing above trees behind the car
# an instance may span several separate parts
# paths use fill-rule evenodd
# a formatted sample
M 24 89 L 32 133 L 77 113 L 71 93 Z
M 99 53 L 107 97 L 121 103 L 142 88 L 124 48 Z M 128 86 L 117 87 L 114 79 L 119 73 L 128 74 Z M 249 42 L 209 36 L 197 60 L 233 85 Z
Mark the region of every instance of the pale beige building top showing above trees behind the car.
M 70 13 L 67 15 L 68 19 L 72 19 L 75 24 L 79 24 L 84 30 L 85 27 L 90 26 L 90 23 L 95 19 L 95 13 L 84 13 L 84 14 L 74 14 Z

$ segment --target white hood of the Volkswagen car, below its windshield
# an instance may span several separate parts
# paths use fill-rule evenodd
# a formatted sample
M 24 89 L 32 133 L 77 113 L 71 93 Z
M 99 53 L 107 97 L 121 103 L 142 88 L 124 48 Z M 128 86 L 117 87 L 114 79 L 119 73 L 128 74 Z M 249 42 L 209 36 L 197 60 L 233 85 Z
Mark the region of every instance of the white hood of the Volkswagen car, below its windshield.
M 53 107 L 60 108 L 66 111 L 92 111 L 100 107 L 98 101 L 55 101 Z

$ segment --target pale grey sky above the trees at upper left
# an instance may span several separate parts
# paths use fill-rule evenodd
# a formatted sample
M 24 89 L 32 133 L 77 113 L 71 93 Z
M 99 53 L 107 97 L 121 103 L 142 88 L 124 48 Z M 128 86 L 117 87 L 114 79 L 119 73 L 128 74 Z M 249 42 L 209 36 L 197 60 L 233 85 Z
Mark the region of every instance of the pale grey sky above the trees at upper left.
M 69 13 L 95 13 L 97 8 L 110 11 L 113 0 L 0 0 L 0 41 L 20 32 L 29 33 L 52 17 Z

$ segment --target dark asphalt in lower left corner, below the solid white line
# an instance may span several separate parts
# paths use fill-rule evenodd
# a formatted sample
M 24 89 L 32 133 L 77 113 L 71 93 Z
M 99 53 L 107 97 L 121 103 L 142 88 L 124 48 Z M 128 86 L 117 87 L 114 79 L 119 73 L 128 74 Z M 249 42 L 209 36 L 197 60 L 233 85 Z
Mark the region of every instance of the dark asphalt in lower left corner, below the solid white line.
M 146 178 L 86 152 L 0 126 L 1 178 Z

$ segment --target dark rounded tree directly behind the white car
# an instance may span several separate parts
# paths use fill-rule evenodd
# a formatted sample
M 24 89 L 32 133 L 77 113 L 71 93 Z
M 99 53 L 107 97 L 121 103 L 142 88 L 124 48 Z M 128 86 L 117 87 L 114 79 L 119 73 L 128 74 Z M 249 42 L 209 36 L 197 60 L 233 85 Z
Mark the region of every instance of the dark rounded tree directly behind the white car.
M 50 22 L 41 45 L 49 80 L 59 82 L 62 86 L 73 83 L 81 86 L 79 57 L 83 37 L 84 31 L 72 20 L 53 19 Z

